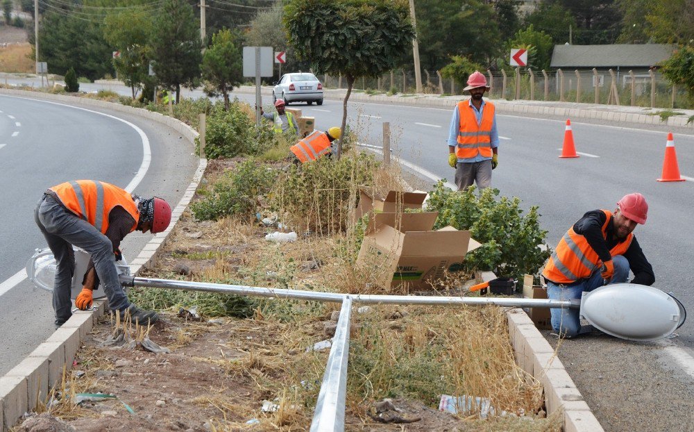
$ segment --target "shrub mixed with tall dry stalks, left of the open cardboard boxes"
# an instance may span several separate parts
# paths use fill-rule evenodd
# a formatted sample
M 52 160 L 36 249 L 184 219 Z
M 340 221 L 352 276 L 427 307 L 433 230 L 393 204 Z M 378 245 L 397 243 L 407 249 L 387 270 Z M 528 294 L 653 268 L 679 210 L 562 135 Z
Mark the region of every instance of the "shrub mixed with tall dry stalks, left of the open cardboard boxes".
M 344 231 L 359 186 L 373 185 L 379 165 L 373 156 L 356 151 L 344 153 L 339 160 L 325 157 L 293 165 L 278 178 L 271 206 L 286 213 L 285 222 L 298 229 Z

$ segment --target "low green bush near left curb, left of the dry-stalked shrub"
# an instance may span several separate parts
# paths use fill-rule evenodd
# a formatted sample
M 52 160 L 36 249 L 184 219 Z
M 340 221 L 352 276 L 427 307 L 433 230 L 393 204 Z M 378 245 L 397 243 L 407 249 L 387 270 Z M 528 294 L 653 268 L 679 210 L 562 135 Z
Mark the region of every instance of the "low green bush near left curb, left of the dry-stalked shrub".
M 248 159 L 226 172 L 212 185 L 212 190 L 203 190 L 205 198 L 192 203 L 193 213 L 202 220 L 228 215 L 254 217 L 257 197 L 270 192 L 275 178 L 275 171 Z

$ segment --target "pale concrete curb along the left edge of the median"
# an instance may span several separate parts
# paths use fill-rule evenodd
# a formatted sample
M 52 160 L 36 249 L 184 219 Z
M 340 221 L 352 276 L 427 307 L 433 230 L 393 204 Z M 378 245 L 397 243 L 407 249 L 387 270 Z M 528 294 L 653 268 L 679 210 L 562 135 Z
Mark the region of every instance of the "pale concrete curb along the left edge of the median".
M 140 117 L 152 119 L 164 124 L 183 135 L 189 142 L 194 142 L 198 133 L 183 122 L 141 108 L 133 108 L 117 103 L 96 101 L 94 99 L 76 98 L 58 94 L 42 94 L 23 90 L 0 90 L 0 94 L 10 94 L 31 99 L 46 99 L 76 103 L 85 106 L 108 108 L 109 110 L 123 111 Z M 130 263 L 130 269 L 137 273 L 144 265 L 153 262 L 158 248 L 166 242 L 167 235 L 171 233 L 178 223 L 180 216 L 193 198 L 198 184 L 205 173 L 207 160 L 201 159 L 198 169 L 188 185 L 183 198 L 172 210 L 171 224 L 166 231 L 154 235 L 137 258 Z M 75 354 L 80 344 L 85 340 L 87 333 L 92 330 L 96 320 L 105 312 L 105 302 L 95 301 L 92 310 L 78 310 L 72 317 L 56 330 L 45 342 L 40 344 L 19 365 L 15 366 L 5 376 L 0 377 L 0 431 L 8 431 L 24 413 L 33 410 L 37 401 L 45 400 L 51 388 L 58 385 L 65 371 L 71 369 Z M 69 377 L 69 375 L 67 375 Z M 69 379 L 69 378 L 67 378 Z

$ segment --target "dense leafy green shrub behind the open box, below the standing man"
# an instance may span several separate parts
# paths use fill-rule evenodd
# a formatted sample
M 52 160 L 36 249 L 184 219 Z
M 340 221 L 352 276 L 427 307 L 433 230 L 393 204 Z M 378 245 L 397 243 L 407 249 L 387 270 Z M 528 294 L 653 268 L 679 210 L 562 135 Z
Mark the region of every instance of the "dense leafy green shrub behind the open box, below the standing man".
M 499 190 L 491 188 L 479 196 L 475 188 L 453 192 L 442 181 L 429 194 L 428 210 L 439 212 L 434 229 L 451 225 L 470 230 L 482 243 L 465 257 L 466 269 L 491 270 L 498 276 L 522 279 L 525 273 L 536 274 L 549 258 L 549 248 L 539 249 L 545 244 L 547 231 L 540 229 L 537 206 L 523 215 L 518 197 L 497 200 Z

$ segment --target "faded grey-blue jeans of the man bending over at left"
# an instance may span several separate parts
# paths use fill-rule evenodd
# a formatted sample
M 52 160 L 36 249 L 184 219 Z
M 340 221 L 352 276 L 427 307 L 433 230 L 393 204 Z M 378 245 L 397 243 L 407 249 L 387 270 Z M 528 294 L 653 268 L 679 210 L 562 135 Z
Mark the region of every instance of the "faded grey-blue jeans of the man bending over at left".
M 71 285 L 75 273 L 74 244 L 92 255 L 96 275 L 108 297 L 112 310 L 124 310 L 130 303 L 118 280 L 118 271 L 111 240 L 80 219 L 55 198 L 45 195 L 34 210 L 34 219 L 56 258 L 56 281 L 53 285 L 53 310 L 56 324 L 63 324 L 72 315 Z

